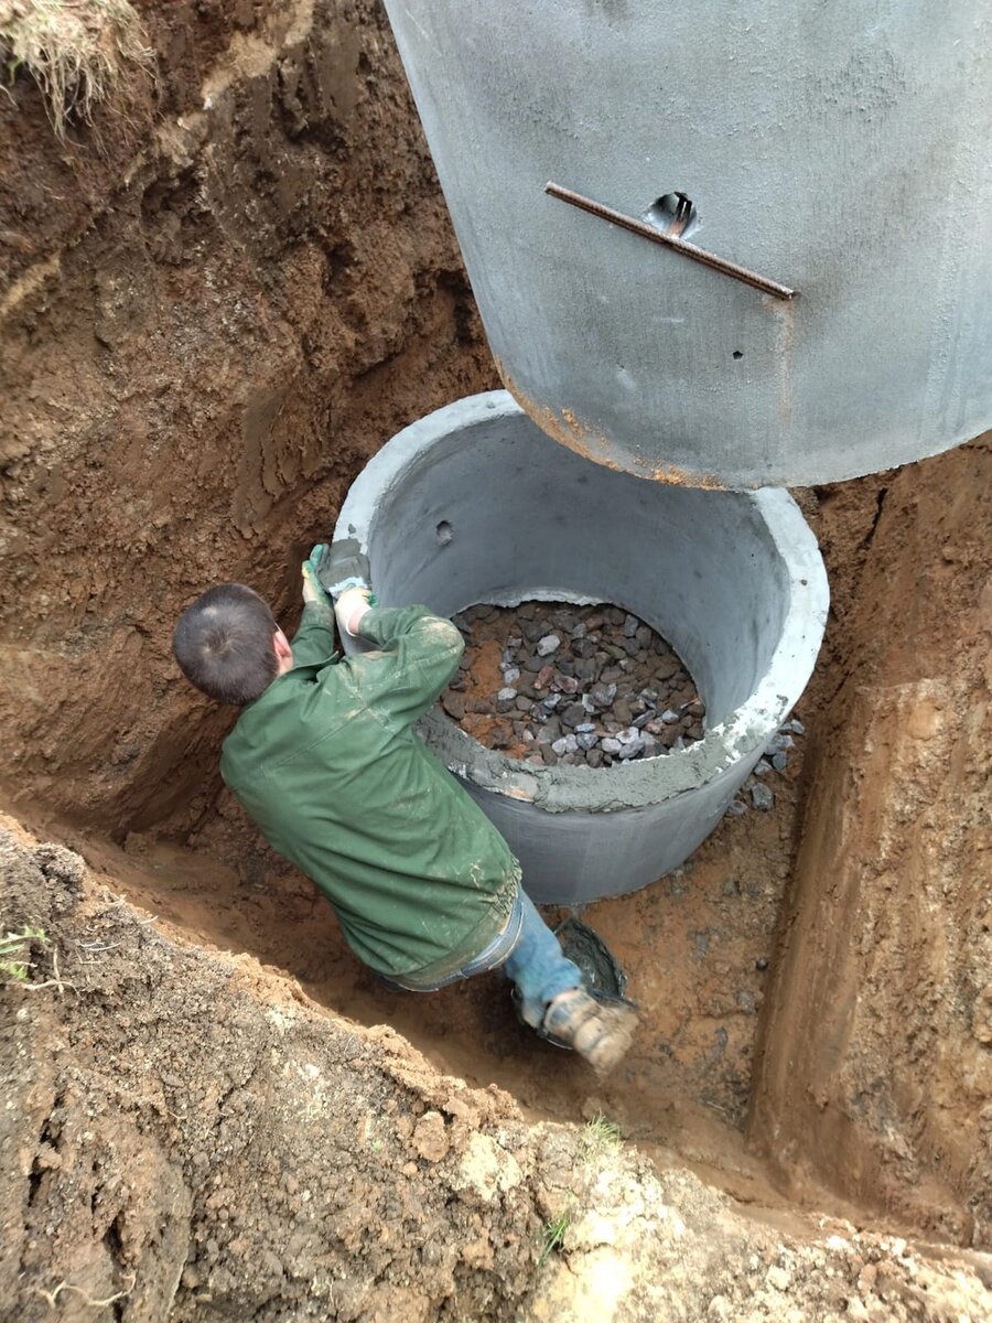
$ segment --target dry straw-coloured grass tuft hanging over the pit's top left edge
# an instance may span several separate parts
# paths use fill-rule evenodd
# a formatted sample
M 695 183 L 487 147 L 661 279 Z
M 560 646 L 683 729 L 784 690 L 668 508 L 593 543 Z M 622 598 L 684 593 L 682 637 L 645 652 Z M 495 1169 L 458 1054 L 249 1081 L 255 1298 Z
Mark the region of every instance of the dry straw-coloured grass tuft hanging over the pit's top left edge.
M 7 82 L 26 70 L 45 98 L 58 138 L 66 123 L 93 122 L 135 69 L 155 64 L 128 0 L 0 0 L 0 60 Z

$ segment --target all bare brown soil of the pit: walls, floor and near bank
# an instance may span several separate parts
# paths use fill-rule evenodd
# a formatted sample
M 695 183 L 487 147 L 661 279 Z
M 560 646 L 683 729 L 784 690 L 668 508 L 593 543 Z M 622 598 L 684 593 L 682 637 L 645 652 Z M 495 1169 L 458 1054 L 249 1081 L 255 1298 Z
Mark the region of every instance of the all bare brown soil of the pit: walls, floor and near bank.
M 378 7 L 142 13 L 126 114 L 0 98 L 0 930 L 48 934 L 0 988 L 0 1319 L 992 1318 L 988 438 L 798 493 L 807 733 L 583 912 L 615 1076 L 499 976 L 385 991 L 168 642 L 218 578 L 291 628 L 365 460 L 499 382 Z

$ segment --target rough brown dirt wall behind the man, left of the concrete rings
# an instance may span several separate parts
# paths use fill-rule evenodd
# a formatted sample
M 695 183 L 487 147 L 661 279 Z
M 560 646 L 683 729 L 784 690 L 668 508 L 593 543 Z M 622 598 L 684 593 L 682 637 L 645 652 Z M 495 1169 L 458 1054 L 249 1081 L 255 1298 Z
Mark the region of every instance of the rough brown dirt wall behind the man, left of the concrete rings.
M 115 837 L 216 796 L 181 607 L 243 579 L 295 623 L 368 456 L 495 384 L 380 7 L 143 19 L 156 78 L 91 128 L 0 97 L 3 775 Z

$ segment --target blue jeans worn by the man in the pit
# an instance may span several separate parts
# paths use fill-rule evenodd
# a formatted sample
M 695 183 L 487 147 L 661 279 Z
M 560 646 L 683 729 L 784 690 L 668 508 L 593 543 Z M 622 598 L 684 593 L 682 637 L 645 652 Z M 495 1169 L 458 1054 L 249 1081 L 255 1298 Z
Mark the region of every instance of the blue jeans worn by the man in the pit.
M 582 984 L 578 964 L 566 959 L 558 945 L 558 938 L 548 927 L 534 909 L 534 902 L 522 886 L 517 888 L 509 919 L 501 933 L 489 942 L 472 960 L 451 974 L 442 983 L 431 987 L 406 986 L 410 992 L 436 992 L 448 983 L 471 979 L 475 974 L 504 968 L 507 976 L 516 984 L 520 998 L 520 1013 L 534 1029 L 544 1023 L 548 1005 L 559 992 Z M 403 987 L 393 979 L 382 979 L 392 987 Z

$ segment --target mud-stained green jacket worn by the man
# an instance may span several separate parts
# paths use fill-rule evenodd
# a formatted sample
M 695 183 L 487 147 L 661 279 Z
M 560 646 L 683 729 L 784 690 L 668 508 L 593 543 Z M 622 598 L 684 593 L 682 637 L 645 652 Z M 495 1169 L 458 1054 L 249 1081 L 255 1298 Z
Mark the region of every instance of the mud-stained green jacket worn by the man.
M 496 937 L 520 867 L 413 729 L 458 667 L 455 626 L 373 607 L 361 632 L 381 651 L 343 658 L 320 607 L 304 607 L 292 669 L 243 709 L 221 775 L 361 960 L 430 982 Z

